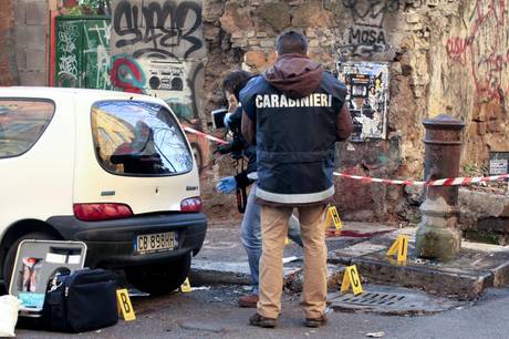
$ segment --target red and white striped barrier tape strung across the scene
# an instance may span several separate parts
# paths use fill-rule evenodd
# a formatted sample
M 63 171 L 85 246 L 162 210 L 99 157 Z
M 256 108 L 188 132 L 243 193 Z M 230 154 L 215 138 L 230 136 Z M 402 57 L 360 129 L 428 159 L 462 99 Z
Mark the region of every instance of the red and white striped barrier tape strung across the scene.
M 193 133 L 199 136 L 204 136 L 207 140 L 216 142 L 218 144 L 221 144 L 221 145 L 228 144 L 224 140 L 220 140 L 218 137 L 196 131 L 195 129 L 191 129 L 188 126 L 183 126 L 183 127 L 185 131 L 189 133 Z M 505 178 L 509 178 L 509 174 L 501 174 L 501 175 L 494 175 L 494 176 L 448 177 L 448 178 L 442 178 L 442 179 L 436 179 L 436 181 L 422 182 L 422 181 L 413 181 L 413 179 L 405 179 L 405 181 L 384 179 L 384 178 L 351 175 L 351 174 L 344 174 L 344 173 L 337 173 L 337 172 L 334 172 L 334 175 L 351 178 L 351 179 L 362 181 L 365 183 L 380 183 L 380 184 L 386 184 L 386 185 L 408 185 L 408 186 L 467 186 L 471 184 L 479 184 L 479 183 L 486 183 L 486 182 L 498 182 Z

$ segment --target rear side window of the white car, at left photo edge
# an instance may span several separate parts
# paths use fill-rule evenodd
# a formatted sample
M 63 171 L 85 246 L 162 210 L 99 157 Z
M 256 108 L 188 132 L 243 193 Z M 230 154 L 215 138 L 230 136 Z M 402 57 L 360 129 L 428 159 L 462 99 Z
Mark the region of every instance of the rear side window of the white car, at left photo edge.
M 54 113 L 54 103 L 31 99 L 0 99 L 0 158 L 28 152 Z

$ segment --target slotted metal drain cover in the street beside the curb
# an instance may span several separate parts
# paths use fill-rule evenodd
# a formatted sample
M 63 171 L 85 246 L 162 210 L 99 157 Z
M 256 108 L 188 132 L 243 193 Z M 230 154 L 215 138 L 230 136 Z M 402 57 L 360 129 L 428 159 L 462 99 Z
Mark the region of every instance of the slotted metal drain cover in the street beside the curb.
M 436 314 L 461 305 L 457 300 L 391 286 L 364 286 L 364 292 L 330 294 L 331 308 L 339 311 L 367 311 L 386 315 Z

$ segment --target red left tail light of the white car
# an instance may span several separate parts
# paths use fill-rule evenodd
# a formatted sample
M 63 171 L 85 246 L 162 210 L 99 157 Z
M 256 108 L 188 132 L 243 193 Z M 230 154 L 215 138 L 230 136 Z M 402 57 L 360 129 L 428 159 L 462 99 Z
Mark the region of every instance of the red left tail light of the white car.
M 133 216 L 131 207 L 124 204 L 74 204 L 74 216 L 83 222 L 121 219 Z

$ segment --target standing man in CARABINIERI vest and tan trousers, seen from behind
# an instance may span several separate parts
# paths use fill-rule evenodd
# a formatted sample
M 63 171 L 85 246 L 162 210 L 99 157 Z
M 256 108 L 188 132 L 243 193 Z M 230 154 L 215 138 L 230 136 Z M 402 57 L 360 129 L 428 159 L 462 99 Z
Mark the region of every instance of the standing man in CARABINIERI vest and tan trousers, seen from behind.
M 320 219 L 334 195 L 335 143 L 350 136 L 353 124 L 344 105 L 345 85 L 307 56 L 305 37 L 285 32 L 276 49 L 274 66 L 240 92 L 242 135 L 257 145 L 263 243 L 258 312 L 249 321 L 276 326 L 288 218 L 297 207 L 304 244 L 301 306 L 305 326 L 319 327 L 326 322 L 326 246 Z

